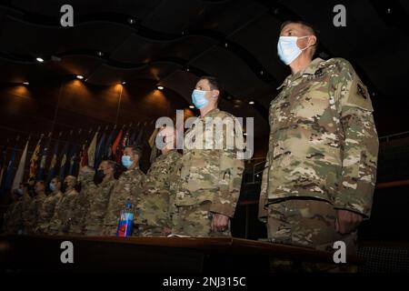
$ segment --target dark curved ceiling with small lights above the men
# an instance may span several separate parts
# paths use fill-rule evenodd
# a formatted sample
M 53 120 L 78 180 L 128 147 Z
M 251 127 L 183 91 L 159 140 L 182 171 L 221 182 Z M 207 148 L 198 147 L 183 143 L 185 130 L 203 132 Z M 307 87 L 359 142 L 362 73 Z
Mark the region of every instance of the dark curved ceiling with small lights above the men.
M 65 4 L 74 7 L 74 27 L 60 26 Z M 396 64 L 409 65 L 400 56 L 409 51 L 402 25 L 408 5 L 398 0 L 384 5 L 344 1 L 347 26 L 337 28 L 336 4 L 9 0 L 0 5 L 0 77 L 18 83 L 80 74 L 95 85 L 151 79 L 190 103 L 197 77 L 215 75 L 227 93 L 222 105 L 254 116 L 257 130 L 268 132 L 268 105 L 289 74 L 276 56 L 277 35 L 280 24 L 291 18 L 315 25 L 318 55 L 351 61 L 374 99 L 381 100 L 375 105 L 403 96 L 406 83 Z M 38 56 L 45 59 L 43 64 L 35 61 Z M 250 100 L 255 104 L 248 105 Z

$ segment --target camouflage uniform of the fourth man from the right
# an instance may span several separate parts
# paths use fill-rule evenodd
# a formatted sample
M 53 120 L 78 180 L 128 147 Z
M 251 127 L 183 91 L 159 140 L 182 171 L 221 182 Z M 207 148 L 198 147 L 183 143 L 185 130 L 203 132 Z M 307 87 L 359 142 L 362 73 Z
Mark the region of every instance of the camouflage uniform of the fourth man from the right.
M 109 204 L 106 210 L 104 222 L 105 236 L 115 236 L 118 228 L 119 216 L 126 203 L 130 203 L 135 209 L 142 194 L 142 183 L 145 173 L 139 167 L 125 171 L 115 183 Z

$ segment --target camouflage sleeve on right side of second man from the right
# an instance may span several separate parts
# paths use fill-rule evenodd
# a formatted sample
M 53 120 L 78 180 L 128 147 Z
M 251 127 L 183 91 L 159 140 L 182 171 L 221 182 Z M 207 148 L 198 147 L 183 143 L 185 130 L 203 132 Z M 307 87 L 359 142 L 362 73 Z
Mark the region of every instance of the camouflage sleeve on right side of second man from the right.
M 234 135 L 235 141 L 237 138 L 243 138 L 243 130 L 241 125 L 236 121 L 234 132 L 226 133 L 224 131 L 224 138 L 227 135 Z M 237 148 L 234 150 L 224 149 L 220 150 L 220 182 L 219 187 L 212 200 L 210 211 L 224 216 L 233 217 L 235 206 L 237 205 L 240 196 L 240 188 L 242 186 L 242 176 L 244 171 L 244 160 L 237 158 Z

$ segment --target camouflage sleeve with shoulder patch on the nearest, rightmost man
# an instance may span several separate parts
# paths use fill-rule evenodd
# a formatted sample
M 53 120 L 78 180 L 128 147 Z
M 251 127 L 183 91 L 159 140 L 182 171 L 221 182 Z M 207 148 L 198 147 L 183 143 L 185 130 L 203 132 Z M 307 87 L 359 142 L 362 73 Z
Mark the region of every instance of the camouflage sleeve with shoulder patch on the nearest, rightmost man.
M 371 215 L 379 141 L 366 87 L 345 61 L 335 85 L 335 105 L 344 135 L 342 174 L 334 207 Z

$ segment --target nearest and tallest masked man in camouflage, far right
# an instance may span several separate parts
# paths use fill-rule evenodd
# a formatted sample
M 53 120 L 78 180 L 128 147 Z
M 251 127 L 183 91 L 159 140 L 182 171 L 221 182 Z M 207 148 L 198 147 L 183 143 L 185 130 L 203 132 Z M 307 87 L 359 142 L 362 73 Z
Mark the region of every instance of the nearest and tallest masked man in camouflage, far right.
M 374 193 L 374 109 L 352 65 L 312 60 L 315 46 L 311 25 L 282 25 L 279 56 L 293 74 L 270 105 L 259 216 L 274 243 L 334 252 L 342 240 L 354 254 Z

